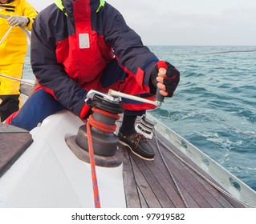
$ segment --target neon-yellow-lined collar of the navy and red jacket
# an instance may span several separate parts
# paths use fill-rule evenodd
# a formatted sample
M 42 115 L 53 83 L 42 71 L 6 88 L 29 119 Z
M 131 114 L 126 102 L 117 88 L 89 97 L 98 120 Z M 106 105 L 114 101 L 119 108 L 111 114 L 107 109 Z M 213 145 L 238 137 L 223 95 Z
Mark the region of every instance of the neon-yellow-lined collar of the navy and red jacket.
M 91 7 L 91 11 L 98 12 L 101 7 L 104 6 L 104 0 L 55 0 L 55 4 L 59 7 L 60 10 L 63 10 L 63 13 L 68 17 L 73 18 L 74 14 L 74 5 L 76 3 L 83 3 L 85 6 Z

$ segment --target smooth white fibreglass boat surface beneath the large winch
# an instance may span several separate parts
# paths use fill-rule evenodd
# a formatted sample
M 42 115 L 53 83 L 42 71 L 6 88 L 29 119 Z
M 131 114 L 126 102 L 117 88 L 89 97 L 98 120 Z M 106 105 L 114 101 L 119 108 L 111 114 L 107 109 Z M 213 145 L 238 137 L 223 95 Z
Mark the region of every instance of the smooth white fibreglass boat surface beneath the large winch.
M 34 142 L 0 178 L 0 207 L 94 207 L 91 166 L 65 142 L 81 125 L 66 110 L 30 132 Z M 101 207 L 126 207 L 122 172 L 96 166 Z

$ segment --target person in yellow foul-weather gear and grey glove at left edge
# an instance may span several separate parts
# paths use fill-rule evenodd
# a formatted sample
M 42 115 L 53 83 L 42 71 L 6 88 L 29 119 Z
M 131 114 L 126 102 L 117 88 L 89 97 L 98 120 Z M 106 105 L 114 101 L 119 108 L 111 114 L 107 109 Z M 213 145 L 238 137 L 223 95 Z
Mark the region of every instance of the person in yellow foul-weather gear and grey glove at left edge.
M 1 122 L 17 111 L 20 106 L 20 82 L 4 78 L 1 74 L 22 78 L 27 51 L 27 37 L 18 26 L 31 30 L 37 14 L 37 11 L 26 0 L 0 0 Z

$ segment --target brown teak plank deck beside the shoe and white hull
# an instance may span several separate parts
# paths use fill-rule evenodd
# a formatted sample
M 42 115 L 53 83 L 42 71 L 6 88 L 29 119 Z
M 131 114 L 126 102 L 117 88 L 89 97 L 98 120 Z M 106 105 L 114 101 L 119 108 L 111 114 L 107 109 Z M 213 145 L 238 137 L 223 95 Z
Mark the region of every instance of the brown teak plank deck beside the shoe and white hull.
M 159 142 L 165 142 L 165 139 L 161 138 Z M 166 143 L 169 144 L 169 142 Z M 155 160 L 148 162 L 129 153 L 126 147 L 120 146 L 120 150 L 124 154 L 124 186 L 127 207 L 244 207 L 240 202 L 216 190 L 183 162 L 178 160 L 161 143 L 159 145 L 161 154 L 163 154 L 169 170 L 165 166 L 158 150 L 155 150 Z M 156 149 L 155 141 L 152 141 L 152 146 Z M 179 150 L 175 146 L 170 146 L 170 149 L 176 154 L 179 154 Z M 206 178 L 214 182 L 208 174 L 205 174 L 189 158 L 184 158 L 182 154 L 179 155 L 190 166 L 193 166 L 193 168 L 196 168 Z M 177 182 L 181 194 L 173 182 L 171 175 L 173 175 L 173 178 Z M 215 184 L 217 183 L 215 182 Z

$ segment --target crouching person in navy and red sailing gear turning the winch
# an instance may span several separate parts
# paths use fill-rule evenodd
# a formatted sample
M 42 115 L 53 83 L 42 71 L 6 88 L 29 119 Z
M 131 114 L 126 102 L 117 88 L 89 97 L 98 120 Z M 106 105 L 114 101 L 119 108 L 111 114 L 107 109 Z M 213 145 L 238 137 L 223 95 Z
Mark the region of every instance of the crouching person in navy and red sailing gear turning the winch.
M 159 61 L 127 26 L 118 10 L 102 0 L 57 0 L 35 19 L 31 65 L 39 86 L 7 123 L 31 130 L 58 110 L 87 118 L 89 90 L 109 89 L 155 99 L 156 87 L 172 97 L 180 73 Z M 158 76 L 161 77 L 158 77 Z M 124 99 L 120 143 L 146 160 L 154 158 L 147 140 L 136 133 L 136 116 L 155 106 Z

